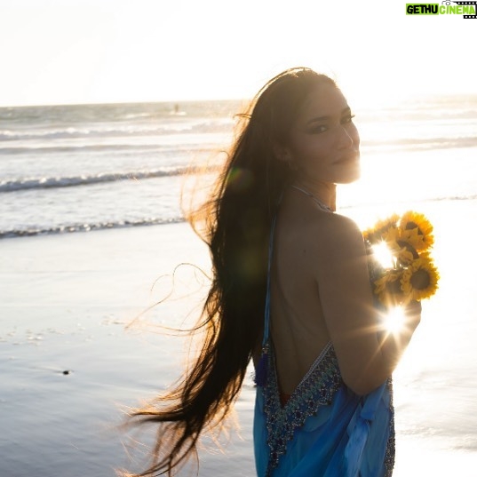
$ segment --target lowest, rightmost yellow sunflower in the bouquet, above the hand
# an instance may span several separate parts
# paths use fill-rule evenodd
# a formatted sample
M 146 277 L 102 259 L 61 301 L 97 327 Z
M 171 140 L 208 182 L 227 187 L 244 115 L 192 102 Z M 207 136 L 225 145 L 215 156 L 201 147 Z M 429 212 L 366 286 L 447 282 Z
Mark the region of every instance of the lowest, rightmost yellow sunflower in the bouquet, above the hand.
M 433 296 L 437 290 L 439 272 L 429 254 L 423 253 L 401 275 L 401 290 L 406 301 L 421 300 Z

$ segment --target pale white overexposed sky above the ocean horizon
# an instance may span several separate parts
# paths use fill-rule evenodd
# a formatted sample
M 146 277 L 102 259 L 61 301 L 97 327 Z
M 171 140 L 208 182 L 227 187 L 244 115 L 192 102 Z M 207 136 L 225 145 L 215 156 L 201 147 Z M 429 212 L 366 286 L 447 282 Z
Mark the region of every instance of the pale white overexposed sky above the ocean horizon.
M 477 19 L 405 5 L 0 0 L 0 107 L 250 98 L 294 66 L 362 101 L 477 93 Z

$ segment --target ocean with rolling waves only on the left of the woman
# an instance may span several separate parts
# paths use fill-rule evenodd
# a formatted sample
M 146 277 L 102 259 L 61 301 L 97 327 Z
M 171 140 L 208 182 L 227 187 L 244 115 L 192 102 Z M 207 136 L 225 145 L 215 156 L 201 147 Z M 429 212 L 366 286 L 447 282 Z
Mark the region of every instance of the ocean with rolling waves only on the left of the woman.
M 0 237 L 181 220 L 180 178 L 224 142 L 235 108 L 0 108 Z

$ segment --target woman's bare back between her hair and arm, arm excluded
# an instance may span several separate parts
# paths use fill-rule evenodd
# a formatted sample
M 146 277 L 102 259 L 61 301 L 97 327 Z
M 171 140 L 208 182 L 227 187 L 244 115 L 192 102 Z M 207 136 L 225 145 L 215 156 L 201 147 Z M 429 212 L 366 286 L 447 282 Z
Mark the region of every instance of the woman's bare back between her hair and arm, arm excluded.
M 274 234 L 271 333 L 285 394 L 293 392 L 330 341 L 314 277 L 313 241 L 316 230 L 325 227 L 326 214 L 330 212 L 313 202 L 290 195 L 282 204 Z

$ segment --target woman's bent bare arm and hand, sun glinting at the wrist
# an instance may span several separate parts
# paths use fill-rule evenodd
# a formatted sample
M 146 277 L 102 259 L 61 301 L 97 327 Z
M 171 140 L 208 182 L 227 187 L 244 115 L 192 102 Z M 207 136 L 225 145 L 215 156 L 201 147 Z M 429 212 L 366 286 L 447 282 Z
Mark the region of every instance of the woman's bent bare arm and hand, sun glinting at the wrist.
M 312 266 L 323 315 L 346 385 L 368 394 L 393 373 L 419 324 L 421 307 L 408 306 L 406 326 L 386 334 L 383 317 L 373 306 L 362 233 L 352 220 L 337 214 L 322 220 L 314 234 L 319 238 Z

